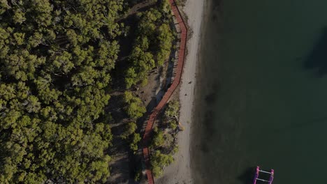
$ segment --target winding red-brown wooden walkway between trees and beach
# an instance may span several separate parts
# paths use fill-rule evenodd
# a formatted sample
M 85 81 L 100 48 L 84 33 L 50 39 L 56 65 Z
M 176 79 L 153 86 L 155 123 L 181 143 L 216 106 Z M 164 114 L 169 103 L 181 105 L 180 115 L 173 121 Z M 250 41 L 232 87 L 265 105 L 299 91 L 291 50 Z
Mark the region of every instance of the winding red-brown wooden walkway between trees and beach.
M 163 95 L 163 98 L 160 100 L 157 107 L 155 107 L 152 113 L 150 114 L 150 118 L 147 121 L 147 126 L 145 128 L 145 133 L 143 136 L 143 144 L 144 144 L 143 157 L 145 161 L 145 169 L 146 169 L 145 171 L 147 174 L 147 181 L 149 182 L 149 184 L 154 184 L 154 177 L 152 175 L 151 165 L 150 165 L 150 150 L 149 150 L 150 132 L 152 131 L 154 121 L 156 120 L 159 112 L 161 112 L 161 109 L 163 109 L 163 107 L 168 102 L 170 96 L 173 94 L 177 86 L 180 84 L 180 79 L 182 77 L 182 70 L 184 67 L 184 59 L 185 59 L 186 43 L 187 43 L 187 26 L 185 25 L 184 20 L 182 19 L 180 10 L 177 8 L 177 5 L 174 0 L 169 0 L 169 3 L 170 3 L 170 8 L 173 11 L 173 14 L 175 15 L 175 18 L 180 26 L 180 34 L 181 34 L 180 52 L 178 55 L 176 75 L 173 84 L 171 84 L 169 89 Z

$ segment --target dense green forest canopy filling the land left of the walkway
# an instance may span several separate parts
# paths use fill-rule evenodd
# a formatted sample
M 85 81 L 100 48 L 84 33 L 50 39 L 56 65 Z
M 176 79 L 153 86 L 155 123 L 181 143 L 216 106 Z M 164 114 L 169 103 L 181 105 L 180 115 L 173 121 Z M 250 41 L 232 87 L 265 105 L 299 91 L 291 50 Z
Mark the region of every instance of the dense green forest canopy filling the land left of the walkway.
M 129 26 L 118 20 L 131 2 L 0 0 L 0 183 L 106 182 L 114 73 L 124 77 L 131 118 L 120 136 L 138 149 L 135 122 L 146 109 L 128 89 L 147 84 L 174 36 L 167 1 Z M 117 70 L 126 36 L 133 39 Z

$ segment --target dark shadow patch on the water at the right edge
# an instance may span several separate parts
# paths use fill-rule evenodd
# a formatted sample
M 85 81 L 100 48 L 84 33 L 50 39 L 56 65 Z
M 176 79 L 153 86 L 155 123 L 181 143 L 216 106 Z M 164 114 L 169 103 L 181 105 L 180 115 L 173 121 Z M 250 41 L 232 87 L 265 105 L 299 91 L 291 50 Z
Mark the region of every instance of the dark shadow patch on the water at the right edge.
M 307 56 L 304 68 L 314 70 L 316 77 L 324 77 L 327 73 L 327 27 L 324 27 L 321 37 Z

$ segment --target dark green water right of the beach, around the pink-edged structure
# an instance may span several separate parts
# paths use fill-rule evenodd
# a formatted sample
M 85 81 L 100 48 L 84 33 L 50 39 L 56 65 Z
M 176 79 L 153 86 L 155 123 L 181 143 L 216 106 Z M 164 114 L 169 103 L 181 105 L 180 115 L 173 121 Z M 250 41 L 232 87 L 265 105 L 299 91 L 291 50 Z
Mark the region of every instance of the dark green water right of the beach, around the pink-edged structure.
M 327 1 L 208 1 L 195 183 L 327 183 Z

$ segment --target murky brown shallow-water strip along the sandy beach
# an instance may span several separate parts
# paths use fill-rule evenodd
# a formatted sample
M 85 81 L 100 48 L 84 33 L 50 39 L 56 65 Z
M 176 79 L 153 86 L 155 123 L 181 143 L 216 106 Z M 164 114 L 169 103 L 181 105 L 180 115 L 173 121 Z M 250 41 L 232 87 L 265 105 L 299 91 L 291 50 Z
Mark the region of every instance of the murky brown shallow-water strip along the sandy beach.
M 219 49 L 219 38 L 221 30 L 221 8 L 222 1 L 210 1 L 205 0 L 203 13 L 203 25 L 201 26 L 201 42 L 205 45 L 199 45 L 198 58 L 201 60 L 201 65 L 198 66 L 197 70 L 197 84 L 194 96 L 194 124 L 191 128 L 191 158 L 194 158 L 191 162 L 191 175 L 194 183 L 215 183 L 212 181 L 212 175 L 217 174 L 216 171 L 208 169 L 208 164 L 212 164 L 212 160 L 205 160 L 208 156 L 206 153 L 210 152 L 209 141 L 215 126 L 212 121 L 212 116 L 215 116 L 215 103 L 217 98 L 217 91 L 219 91 L 219 81 L 217 72 L 219 68 L 210 63 L 210 57 L 212 55 L 218 56 L 216 52 L 220 52 Z M 213 29 L 215 28 L 215 29 Z M 213 33 L 217 33 L 218 36 L 212 37 Z M 214 43 L 214 44 L 212 44 Z M 214 48 L 214 49 L 212 49 Z M 210 51 L 210 52 L 208 52 Z M 209 57 L 209 58 L 208 58 Z M 217 61 L 217 58 L 215 58 Z M 215 154 L 215 153 L 213 153 Z M 215 157 L 215 155 L 210 155 Z

